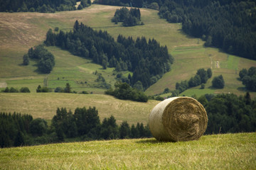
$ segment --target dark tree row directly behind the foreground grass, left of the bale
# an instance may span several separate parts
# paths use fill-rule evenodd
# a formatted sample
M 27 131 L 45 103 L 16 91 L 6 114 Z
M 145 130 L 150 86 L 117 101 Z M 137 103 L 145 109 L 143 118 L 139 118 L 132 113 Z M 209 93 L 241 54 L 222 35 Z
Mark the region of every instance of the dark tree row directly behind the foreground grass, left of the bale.
M 58 108 L 50 127 L 42 118 L 33 119 L 21 113 L 0 113 L 1 147 L 40 145 L 63 142 L 67 138 L 76 141 L 112 140 L 151 137 L 149 127 L 137 123 L 131 127 L 127 121 L 117 125 L 114 116 L 102 123 L 96 108 L 76 108 L 75 113 Z

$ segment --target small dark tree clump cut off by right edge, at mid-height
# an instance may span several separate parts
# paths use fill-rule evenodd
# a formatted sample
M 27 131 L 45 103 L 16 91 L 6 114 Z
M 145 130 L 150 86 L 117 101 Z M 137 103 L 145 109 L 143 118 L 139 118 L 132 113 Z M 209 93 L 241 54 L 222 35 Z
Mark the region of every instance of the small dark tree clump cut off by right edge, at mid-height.
M 256 67 L 250 67 L 248 70 L 242 69 L 239 76 L 247 90 L 256 91 Z

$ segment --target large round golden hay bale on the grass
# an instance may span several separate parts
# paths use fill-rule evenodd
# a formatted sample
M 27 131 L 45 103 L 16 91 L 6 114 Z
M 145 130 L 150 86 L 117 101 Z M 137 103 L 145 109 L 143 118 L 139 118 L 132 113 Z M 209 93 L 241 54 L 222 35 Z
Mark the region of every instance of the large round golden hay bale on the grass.
M 149 129 L 156 140 L 198 140 L 206 132 L 205 108 L 190 97 L 168 98 L 157 104 L 149 115 Z

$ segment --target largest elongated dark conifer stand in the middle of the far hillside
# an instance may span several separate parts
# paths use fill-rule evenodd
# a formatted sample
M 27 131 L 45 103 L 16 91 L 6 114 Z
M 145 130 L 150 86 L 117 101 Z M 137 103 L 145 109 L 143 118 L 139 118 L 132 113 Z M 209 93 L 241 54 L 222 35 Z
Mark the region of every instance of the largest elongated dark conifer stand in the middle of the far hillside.
M 167 47 L 154 40 L 119 35 L 117 42 L 106 31 L 92 30 L 89 26 L 75 21 L 73 31 L 53 33 L 48 30 L 46 45 L 56 45 L 70 51 L 73 55 L 90 58 L 101 64 L 103 69 L 115 67 L 117 72 L 129 70 L 128 84 L 141 81 L 144 89 L 156 83 L 161 76 L 170 70 L 173 57 Z

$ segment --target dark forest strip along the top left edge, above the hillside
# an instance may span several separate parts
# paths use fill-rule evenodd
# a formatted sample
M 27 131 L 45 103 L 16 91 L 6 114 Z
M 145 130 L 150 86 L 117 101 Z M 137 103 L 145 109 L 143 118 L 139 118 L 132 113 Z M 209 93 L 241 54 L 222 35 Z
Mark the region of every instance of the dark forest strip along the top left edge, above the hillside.
M 76 10 L 75 5 L 76 0 L 0 0 L 0 11 L 54 13 Z

